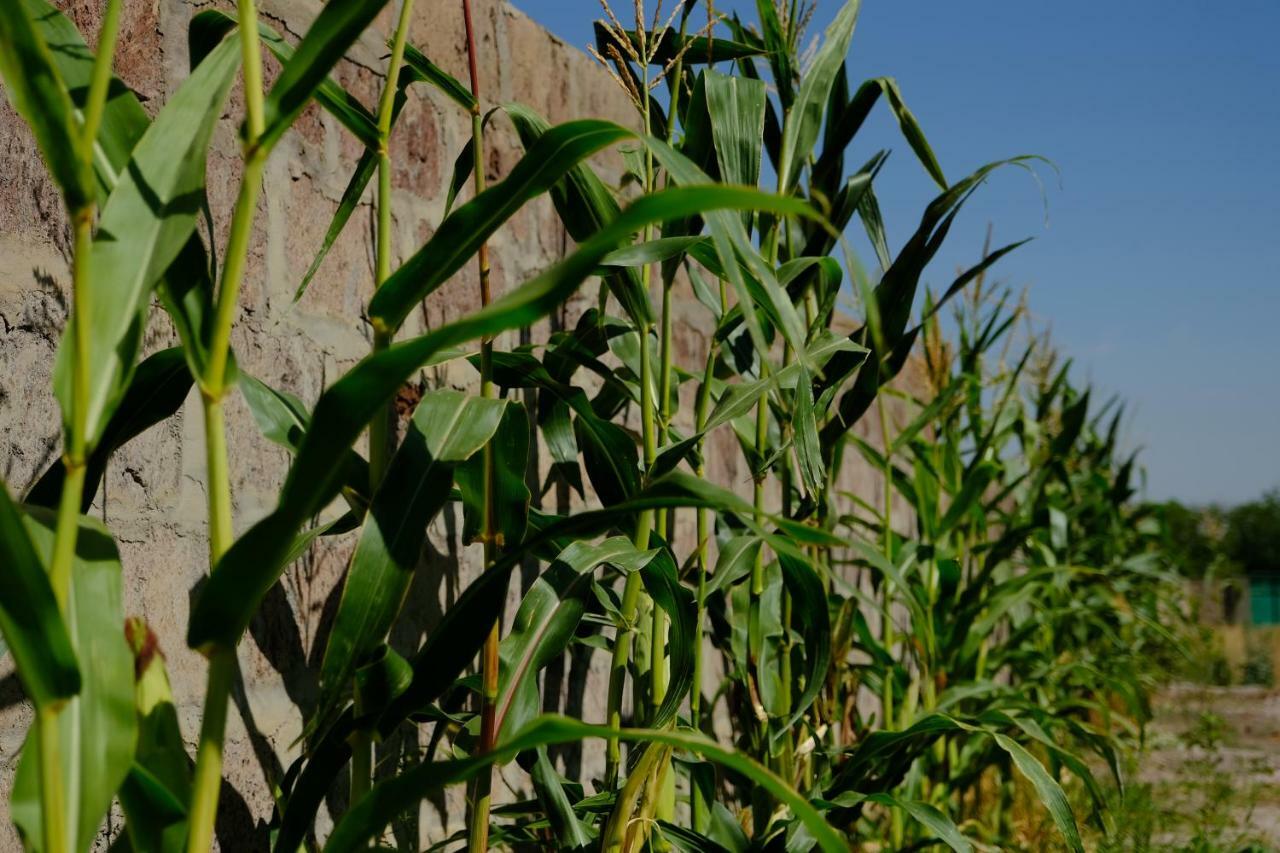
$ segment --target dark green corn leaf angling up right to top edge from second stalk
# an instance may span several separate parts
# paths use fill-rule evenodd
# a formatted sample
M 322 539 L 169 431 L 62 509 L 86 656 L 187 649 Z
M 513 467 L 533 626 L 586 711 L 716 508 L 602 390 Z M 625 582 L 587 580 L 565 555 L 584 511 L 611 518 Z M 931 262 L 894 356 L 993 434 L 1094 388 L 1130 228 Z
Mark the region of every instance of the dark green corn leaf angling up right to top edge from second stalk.
M 346 96 L 329 81 L 329 70 L 338 64 L 384 5 L 387 0 L 346 0 L 321 8 L 307 35 L 302 37 L 293 56 L 283 64 L 279 77 L 268 92 L 262 136 L 257 140 L 260 146 L 270 150 L 317 92 L 329 92 L 334 99 Z M 342 100 L 339 104 L 353 109 L 349 101 Z M 367 128 L 365 131 L 367 132 Z M 376 134 L 374 138 L 376 140 Z

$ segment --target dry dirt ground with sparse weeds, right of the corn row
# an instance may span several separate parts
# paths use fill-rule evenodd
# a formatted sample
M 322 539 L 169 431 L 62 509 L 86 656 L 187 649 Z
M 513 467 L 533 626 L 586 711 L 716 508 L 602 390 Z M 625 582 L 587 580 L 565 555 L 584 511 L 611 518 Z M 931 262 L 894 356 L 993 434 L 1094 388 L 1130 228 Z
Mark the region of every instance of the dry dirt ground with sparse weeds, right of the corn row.
M 1178 684 L 1153 711 L 1121 849 L 1280 850 L 1280 689 Z

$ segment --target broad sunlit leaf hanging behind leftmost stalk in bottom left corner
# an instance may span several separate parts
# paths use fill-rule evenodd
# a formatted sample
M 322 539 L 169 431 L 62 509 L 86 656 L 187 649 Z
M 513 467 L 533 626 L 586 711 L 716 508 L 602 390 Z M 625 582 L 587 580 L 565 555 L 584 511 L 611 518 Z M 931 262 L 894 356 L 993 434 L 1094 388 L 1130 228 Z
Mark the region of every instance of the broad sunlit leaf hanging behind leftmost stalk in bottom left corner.
M 33 508 L 26 528 L 45 560 L 54 551 L 54 514 Z M 97 521 L 82 517 L 72 561 L 67 628 L 86 661 L 79 693 L 58 713 L 59 761 L 67 790 L 65 833 L 70 849 L 88 849 L 133 763 L 137 716 L 133 654 L 124 638 L 120 556 Z M 31 849 L 42 849 L 40 766 L 35 731 L 14 777 L 12 813 Z

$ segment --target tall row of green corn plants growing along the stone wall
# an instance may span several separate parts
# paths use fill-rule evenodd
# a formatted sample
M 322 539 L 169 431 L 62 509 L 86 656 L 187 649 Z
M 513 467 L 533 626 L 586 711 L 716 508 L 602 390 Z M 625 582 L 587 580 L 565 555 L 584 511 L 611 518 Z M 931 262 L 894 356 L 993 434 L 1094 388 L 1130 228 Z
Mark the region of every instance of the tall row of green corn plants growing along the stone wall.
M 1009 838 L 1015 785 L 1082 849 L 1061 783 L 1080 780 L 1105 829 L 1101 783 L 1079 753 L 1120 781 L 1116 751 L 1147 713 L 1143 653 L 1176 642 L 1155 530 L 1129 507 L 1135 464 L 1119 456 L 1119 414 L 1091 420 L 1088 392 L 1036 339 L 1009 364 L 1020 311 L 992 301 L 983 279 L 1020 243 L 986 251 L 937 296 L 922 284 L 986 177 L 1033 160 L 948 181 L 891 78 L 850 87 L 858 0 L 810 56 L 804 3 L 762 0 L 755 27 L 710 4 L 666 18 L 637 4 L 628 23 L 605 6 L 591 50 L 639 131 L 486 104 L 467 0 L 439 4 L 465 22 L 467 85 L 408 42 L 403 0 L 371 109 L 329 73 L 384 5 L 335 0 L 296 45 L 253 0 L 201 12 L 192 73 L 154 119 L 111 74 L 118 0 L 96 51 L 46 0 L 0 15 L 5 92 L 74 233 L 54 389 L 63 459 L 22 502 L 0 491 L 0 630 L 36 708 L 12 802 L 24 843 L 87 849 L 118 802 L 122 849 L 210 849 L 237 646 L 289 564 L 319 537 L 347 535 L 319 698 L 274 792 L 273 849 L 384 841 L 451 785 L 467 786 L 466 830 L 433 840 L 472 850 L 842 850 L 872 839 L 968 850 L 966 835 Z M 280 64 L 269 88 L 264 50 Z M 242 182 L 214 246 L 198 228 L 204 164 L 237 73 Z M 443 220 L 397 266 L 392 167 L 412 142 L 393 128 L 417 86 L 443 92 L 472 132 Z M 308 409 L 243 373 L 230 332 L 265 164 L 312 101 L 364 152 L 297 298 L 326 286 L 325 255 L 378 182 L 372 348 Z M 896 254 L 877 201 L 887 154 L 846 168 L 879 101 L 938 190 Z M 490 122 L 509 122 L 525 147 L 492 184 Z M 625 164 L 617 186 L 591 161 L 611 149 Z M 543 196 L 576 246 L 494 297 L 488 241 Z M 855 228 L 874 273 L 846 238 Z M 404 337 L 413 307 L 472 264 L 479 310 Z M 499 346 L 588 286 L 596 305 L 572 328 Z M 966 292 L 945 325 L 943 306 Z M 710 334 L 678 364 L 686 295 Z M 152 296 L 180 346 L 140 359 Z M 401 419 L 404 383 L 444 361 L 474 366 L 479 393 L 430 389 Z M 922 386 L 895 384 L 909 364 L 923 365 Z M 111 534 L 84 516 L 108 456 L 192 387 L 210 543 L 187 633 L 209 660 L 193 758 L 155 637 L 124 620 Z M 236 392 L 291 453 L 275 507 L 239 537 L 221 414 Z M 531 428 L 550 456 L 544 491 L 576 493 L 576 511 L 535 505 Z M 749 494 L 709 479 L 708 457 L 733 443 Z M 855 455 L 882 501 L 842 476 Z M 895 517 L 895 494 L 909 519 Z M 451 505 L 484 569 L 420 648 L 393 648 L 428 526 Z M 524 565 L 536 579 L 506 622 Z M 582 648 L 611 663 L 604 717 L 540 715 L 541 672 Z M 403 731 L 429 733 L 428 749 L 375 768 L 375 745 Z M 584 739 L 604 743 L 603 772 L 568 779 L 548 748 Z M 531 797 L 495 804 L 492 774 L 512 763 Z M 343 784 L 346 809 L 317 838 Z

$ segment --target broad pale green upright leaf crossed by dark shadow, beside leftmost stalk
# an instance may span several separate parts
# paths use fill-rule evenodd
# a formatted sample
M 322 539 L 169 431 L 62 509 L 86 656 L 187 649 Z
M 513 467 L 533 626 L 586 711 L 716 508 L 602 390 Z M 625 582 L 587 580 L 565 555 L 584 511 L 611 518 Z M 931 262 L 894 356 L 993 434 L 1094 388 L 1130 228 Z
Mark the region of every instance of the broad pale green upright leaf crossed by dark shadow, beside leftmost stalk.
M 86 324 L 90 375 L 84 443 L 106 428 L 133 371 L 142 313 L 151 292 L 192 237 L 204 204 L 205 151 L 230 91 L 239 51 L 224 41 L 205 58 L 138 140 L 129 164 L 102 207 L 90 256 L 93 298 Z M 63 337 L 54 388 L 72 410 L 73 333 Z

